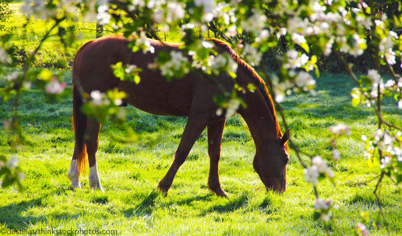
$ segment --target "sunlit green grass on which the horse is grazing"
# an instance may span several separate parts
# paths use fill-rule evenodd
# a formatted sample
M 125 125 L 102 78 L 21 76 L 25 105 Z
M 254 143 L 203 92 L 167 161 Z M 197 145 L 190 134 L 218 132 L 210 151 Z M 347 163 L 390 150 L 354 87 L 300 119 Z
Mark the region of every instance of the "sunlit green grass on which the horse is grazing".
M 14 70 L 4 68 L 0 89 L 6 74 Z M 70 80 L 69 72 L 61 73 Z M 336 186 L 328 181 L 319 183 L 319 193 L 339 205 L 334 215 L 342 231 L 348 233 L 361 221 L 360 212 L 367 211 L 370 234 L 382 235 L 385 225 L 372 193 L 375 181 L 366 182 L 377 175 L 379 167 L 367 166 L 360 140 L 362 134 L 376 130 L 376 118 L 370 108 L 350 105 L 353 84 L 347 76 L 324 74 L 317 82 L 317 95 L 291 95 L 282 102 L 291 137 L 304 151 L 325 156 L 331 155 L 328 127 L 342 122 L 351 128 L 352 135 L 338 142 L 340 161 L 329 163 Z M 394 101 L 385 100 L 383 110 L 386 119 L 402 125 Z M 12 111 L 10 101 L 0 104 L 0 120 L 9 119 Z M 39 89 L 23 92 L 19 114 L 28 145 L 18 155 L 26 173 L 26 192 L 19 193 L 15 187 L 0 189 L 1 227 L 117 229 L 119 235 L 325 234 L 322 222 L 313 221 L 314 192 L 304 181 L 303 168 L 292 150 L 286 192 L 266 193 L 252 168 L 255 147 L 240 116 L 227 121 L 223 135 L 220 178 L 229 199 L 208 190 L 206 132 L 195 143 L 165 198 L 156 186 L 172 162 L 186 118 L 155 116 L 132 106 L 126 111 L 128 124 L 142 141 L 115 143 L 111 137 L 124 137 L 124 131 L 113 123 L 104 124 L 97 157 L 105 194 L 89 188 L 87 174 L 80 177 L 83 189 L 71 191 L 66 176 L 74 146 L 71 97 L 52 103 Z M 158 141 L 161 137 L 164 139 Z M 12 138 L 0 125 L 0 152 L 11 152 Z M 400 190 L 385 179 L 380 194 L 389 229 L 393 235 L 402 233 Z M 334 230 L 334 225 L 330 228 Z

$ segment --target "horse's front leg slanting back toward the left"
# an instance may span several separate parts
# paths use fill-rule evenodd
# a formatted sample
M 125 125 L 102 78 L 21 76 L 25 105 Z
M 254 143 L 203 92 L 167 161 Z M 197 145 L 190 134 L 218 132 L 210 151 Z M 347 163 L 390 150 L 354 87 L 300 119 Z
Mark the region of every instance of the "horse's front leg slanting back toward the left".
M 183 135 L 181 136 L 181 140 L 179 146 L 177 148 L 176 154 L 174 155 L 174 160 L 169 170 L 163 179 L 159 182 L 158 188 L 167 196 L 167 191 L 170 186 L 172 186 L 172 182 L 174 176 L 177 173 L 177 170 L 184 163 L 185 159 L 188 156 L 192 146 L 195 141 L 199 137 L 199 135 L 204 131 L 207 125 L 207 120 L 203 118 L 201 115 L 189 115 L 187 124 L 184 128 Z

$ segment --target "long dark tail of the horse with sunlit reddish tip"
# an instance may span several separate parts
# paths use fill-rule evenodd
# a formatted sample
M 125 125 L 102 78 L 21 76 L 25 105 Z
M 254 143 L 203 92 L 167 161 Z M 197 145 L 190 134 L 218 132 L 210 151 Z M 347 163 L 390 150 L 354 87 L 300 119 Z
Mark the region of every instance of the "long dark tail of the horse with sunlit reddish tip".
M 82 48 L 81 48 L 82 49 Z M 83 169 L 85 171 L 85 159 L 87 158 L 86 154 L 86 145 L 84 140 L 84 135 L 86 131 L 86 123 L 87 116 L 82 113 L 81 106 L 83 104 L 81 88 L 79 87 L 77 74 L 75 72 L 75 60 L 78 56 L 80 50 L 75 54 L 72 70 L 71 70 L 71 79 L 72 79 L 72 125 L 75 132 L 75 147 L 74 154 L 77 160 L 78 173 Z

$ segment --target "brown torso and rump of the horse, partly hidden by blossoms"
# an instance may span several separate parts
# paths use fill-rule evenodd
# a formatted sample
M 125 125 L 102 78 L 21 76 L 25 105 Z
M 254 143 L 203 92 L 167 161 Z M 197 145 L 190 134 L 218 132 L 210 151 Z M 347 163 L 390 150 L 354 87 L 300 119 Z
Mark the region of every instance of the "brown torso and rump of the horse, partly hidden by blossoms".
M 133 53 L 128 48 L 130 40 L 119 34 L 84 44 L 76 55 L 74 65 L 79 85 L 88 93 L 92 90 L 106 92 L 117 87 L 128 94 L 128 103 L 153 114 L 187 116 L 194 103 L 194 96 L 197 99 L 195 103 L 216 110 L 213 97 L 219 91 L 216 85 L 198 73 L 189 72 L 181 79 L 167 81 L 160 70 L 148 68 L 159 51 L 178 50 L 180 44 L 149 41 L 155 53 L 144 54 L 142 50 Z M 121 81 L 114 76 L 110 65 L 120 61 L 142 69 L 139 84 Z

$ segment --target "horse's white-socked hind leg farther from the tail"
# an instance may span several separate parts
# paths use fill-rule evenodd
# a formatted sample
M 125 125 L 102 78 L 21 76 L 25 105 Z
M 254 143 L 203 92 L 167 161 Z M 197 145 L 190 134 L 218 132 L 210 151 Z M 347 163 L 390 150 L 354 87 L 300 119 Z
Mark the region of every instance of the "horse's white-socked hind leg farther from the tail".
M 105 192 L 100 185 L 99 174 L 96 166 L 96 151 L 99 143 L 100 124 L 96 119 L 88 119 L 85 132 L 86 153 L 89 162 L 89 186 L 93 189 L 99 189 Z

